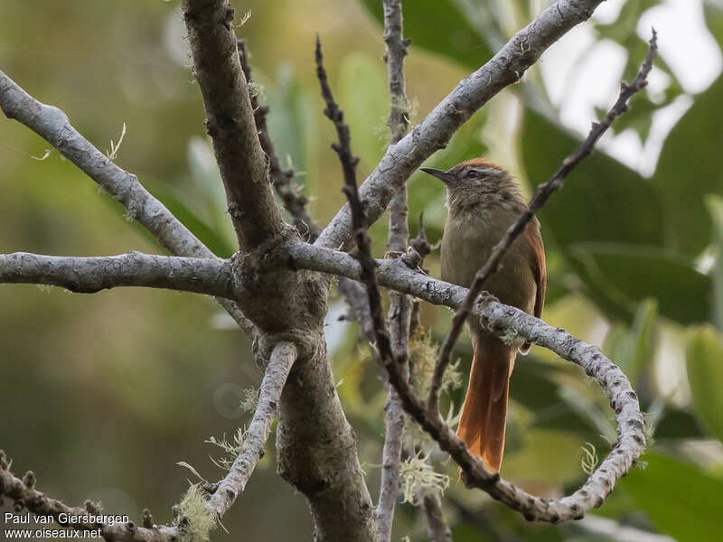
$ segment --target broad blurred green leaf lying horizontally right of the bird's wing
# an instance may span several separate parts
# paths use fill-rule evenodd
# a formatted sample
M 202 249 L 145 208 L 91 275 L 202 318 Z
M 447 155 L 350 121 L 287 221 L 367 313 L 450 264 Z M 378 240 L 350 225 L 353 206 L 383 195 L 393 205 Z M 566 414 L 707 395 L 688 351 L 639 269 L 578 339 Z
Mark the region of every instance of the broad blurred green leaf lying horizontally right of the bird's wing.
M 683 324 L 709 320 L 710 277 L 687 257 L 623 243 L 576 243 L 569 253 L 585 267 L 588 283 L 631 314 L 652 297 L 666 318 Z

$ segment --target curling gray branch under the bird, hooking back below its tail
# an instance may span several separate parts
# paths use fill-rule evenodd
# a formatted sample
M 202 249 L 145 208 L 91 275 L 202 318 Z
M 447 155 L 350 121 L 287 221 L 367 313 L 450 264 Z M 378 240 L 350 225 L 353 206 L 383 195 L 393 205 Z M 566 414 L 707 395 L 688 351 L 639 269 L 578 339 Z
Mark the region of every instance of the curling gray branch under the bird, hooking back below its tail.
M 288 253 L 290 261 L 297 268 L 315 269 L 356 280 L 361 275 L 359 262 L 343 252 L 297 243 L 289 246 Z M 464 302 L 468 293 L 466 288 L 421 275 L 408 268 L 403 259 L 405 257 L 377 260 L 377 280 L 380 285 L 415 295 L 431 304 L 443 304 L 454 309 Z M 562 499 L 545 500 L 484 471 L 479 459 L 469 453 L 464 442 L 456 437 L 441 417 L 437 415 L 434 419 L 428 418 L 426 406 L 408 385 L 399 387 L 398 382 L 398 389 L 405 392 L 399 392 L 405 401 L 405 410 L 424 426 L 444 451 L 452 455 L 468 481 L 490 493 L 494 499 L 502 500 L 512 509 L 520 511 L 526 519 L 558 522 L 583 517 L 588 509 L 602 505 L 615 482 L 630 470 L 645 448 L 643 415 L 630 382 L 623 371 L 596 346 L 579 341 L 568 332 L 554 328 L 519 309 L 484 300 L 474 304 L 472 314 L 493 332 L 501 335 L 510 330 L 517 332 L 525 340 L 579 365 L 589 377 L 595 378 L 610 397 L 610 405 L 615 411 L 618 439 L 612 452 L 582 488 Z

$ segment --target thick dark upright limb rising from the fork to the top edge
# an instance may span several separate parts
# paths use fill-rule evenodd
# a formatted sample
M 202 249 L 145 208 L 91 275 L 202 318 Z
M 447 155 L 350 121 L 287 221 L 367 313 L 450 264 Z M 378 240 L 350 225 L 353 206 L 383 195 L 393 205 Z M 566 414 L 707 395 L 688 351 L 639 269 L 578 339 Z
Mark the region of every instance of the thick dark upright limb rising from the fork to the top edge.
M 284 229 L 268 183 L 228 0 L 183 0 L 193 72 L 206 111 L 239 247 L 258 248 Z

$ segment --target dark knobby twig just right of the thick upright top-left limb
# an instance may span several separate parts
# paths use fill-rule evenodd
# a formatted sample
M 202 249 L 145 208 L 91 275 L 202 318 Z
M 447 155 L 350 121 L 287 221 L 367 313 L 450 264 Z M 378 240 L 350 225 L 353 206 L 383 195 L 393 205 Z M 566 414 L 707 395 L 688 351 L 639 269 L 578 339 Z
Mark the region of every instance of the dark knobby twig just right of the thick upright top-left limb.
M 252 79 L 251 66 L 249 64 L 249 50 L 245 40 L 237 40 L 237 43 L 239 46 L 241 69 L 243 70 L 247 83 L 249 83 L 250 89 Z M 312 220 L 306 210 L 306 204 L 309 201 L 294 184 L 294 170 L 284 170 L 281 168 L 278 156 L 274 150 L 274 143 L 271 140 L 271 135 L 268 133 L 268 107 L 258 103 L 258 95 L 255 92 L 250 92 L 249 98 L 251 99 L 251 107 L 254 110 L 258 140 L 261 142 L 261 148 L 267 156 L 268 174 L 271 177 L 271 183 L 274 185 L 274 189 L 277 191 L 281 201 L 283 201 L 284 208 L 294 219 L 294 226 L 296 226 L 298 232 L 313 243 L 316 238 L 319 237 L 322 229 Z

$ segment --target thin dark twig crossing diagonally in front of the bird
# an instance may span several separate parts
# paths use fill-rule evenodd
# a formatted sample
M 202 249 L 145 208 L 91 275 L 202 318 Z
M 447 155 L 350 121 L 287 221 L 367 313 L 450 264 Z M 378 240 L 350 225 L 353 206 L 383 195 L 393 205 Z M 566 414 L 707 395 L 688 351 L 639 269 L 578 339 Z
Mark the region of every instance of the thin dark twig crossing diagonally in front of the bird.
M 568 155 L 565 160 L 562 161 L 562 165 L 558 171 L 555 172 L 549 181 L 540 184 L 535 195 L 532 197 L 527 209 L 524 210 L 520 218 L 507 229 L 504 237 L 500 239 L 497 245 L 494 246 L 490 257 L 484 263 L 484 266 L 477 271 L 474 276 L 474 282 L 470 286 L 469 294 L 465 299 L 465 303 L 455 313 L 452 319 L 452 329 L 446 336 L 445 342 L 442 348 L 439 350 L 439 359 L 435 367 L 434 376 L 432 378 L 432 386 L 429 388 L 429 397 L 427 397 L 427 407 L 431 411 L 437 410 L 437 398 L 439 395 L 439 387 L 442 384 L 442 378 L 444 376 L 447 365 L 449 364 L 452 349 L 455 346 L 456 340 L 459 338 L 459 334 L 462 332 L 462 328 L 465 325 L 467 317 L 469 316 L 474 300 L 477 295 L 482 292 L 485 281 L 496 273 L 500 268 L 500 262 L 504 257 L 507 250 L 512 246 L 512 242 L 517 238 L 527 223 L 532 220 L 535 213 L 548 201 L 549 196 L 552 192 L 557 191 L 562 187 L 563 180 L 568 176 L 572 170 L 575 169 L 588 154 L 590 154 L 595 147 L 595 144 L 600 137 L 605 134 L 607 128 L 609 128 L 615 118 L 620 117 L 627 110 L 628 100 L 640 89 L 643 89 L 647 85 L 647 76 L 650 70 L 653 69 L 653 61 L 657 54 L 657 33 L 653 29 L 653 37 L 650 40 L 648 53 L 645 56 L 643 64 L 641 64 L 640 70 L 638 71 L 635 79 L 631 85 L 623 83 L 620 89 L 620 96 L 615 101 L 615 105 L 610 108 L 607 112 L 606 117 L 599 123 L 593 123 L 592 129 L 589 135 L 582 144 L 580 144 L 574 153 Z

